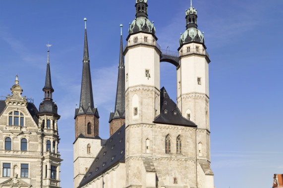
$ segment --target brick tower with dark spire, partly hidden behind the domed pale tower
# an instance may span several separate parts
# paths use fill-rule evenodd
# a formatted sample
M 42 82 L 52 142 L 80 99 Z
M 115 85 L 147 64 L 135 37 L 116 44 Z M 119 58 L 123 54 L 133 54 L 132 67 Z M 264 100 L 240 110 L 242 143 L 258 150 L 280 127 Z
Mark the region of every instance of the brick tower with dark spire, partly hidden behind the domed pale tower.
M 116 91 L 115 110 L 110 113 L 110 137 L 125 124 L 125 65 L 123 55 L 123 37 L 121 27 L 120 58 L 118 65 L 118 81 Z

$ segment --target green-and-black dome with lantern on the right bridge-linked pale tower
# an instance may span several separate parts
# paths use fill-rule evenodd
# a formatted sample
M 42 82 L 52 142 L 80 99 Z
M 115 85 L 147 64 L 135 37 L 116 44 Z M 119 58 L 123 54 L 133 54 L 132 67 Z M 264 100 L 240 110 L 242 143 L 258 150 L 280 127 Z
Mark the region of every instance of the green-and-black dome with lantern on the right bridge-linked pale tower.
M 205 47 L 204 33 L 201 33 L 197 27 L 197 9 L 192 6 L 191 1 L 190 8 L 186 10 L 186 31 L 181 34 L 180 47 L 191 42 L 200 43 Z

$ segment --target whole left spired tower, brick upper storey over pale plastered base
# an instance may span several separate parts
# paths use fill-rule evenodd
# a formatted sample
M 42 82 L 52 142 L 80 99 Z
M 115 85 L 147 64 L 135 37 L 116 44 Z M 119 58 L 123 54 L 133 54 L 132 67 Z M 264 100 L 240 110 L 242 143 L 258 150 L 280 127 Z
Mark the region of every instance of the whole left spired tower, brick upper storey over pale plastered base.
M 90 60 L 85 21 L 82 85 L 79 108 L 75 110 L 74 188 L 79 186 L 89 166 L 101 149 L 99 114 L 93 102 Z

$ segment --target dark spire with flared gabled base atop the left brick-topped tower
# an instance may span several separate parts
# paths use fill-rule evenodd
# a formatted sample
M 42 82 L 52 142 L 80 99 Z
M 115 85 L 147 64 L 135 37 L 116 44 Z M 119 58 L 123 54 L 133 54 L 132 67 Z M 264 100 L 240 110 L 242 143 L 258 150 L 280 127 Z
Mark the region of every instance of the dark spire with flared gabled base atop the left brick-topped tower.
M 86 22 L 86 18 L 84 19 Z M 77 115 L 90 114 L 99 117 L 97 108 L 94 107 L 92 82 L 90 74 L 90 60 L 88 53 L 87 32 L 85 27 L 84 37 L 84 56 L 83 56 L 83 72 L 82 72 L 82 84 L 81 84 L 81 96 L 79 109 L 75 111 L 75 118 Z

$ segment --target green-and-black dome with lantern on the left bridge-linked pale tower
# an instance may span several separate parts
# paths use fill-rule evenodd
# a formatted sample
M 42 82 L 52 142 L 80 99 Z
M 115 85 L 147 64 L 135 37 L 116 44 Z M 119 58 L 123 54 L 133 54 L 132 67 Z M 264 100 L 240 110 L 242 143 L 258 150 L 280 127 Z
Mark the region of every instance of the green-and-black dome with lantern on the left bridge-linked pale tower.
M 147 0 L 136 0 L 136 18 L 130 23 L 129 35 L 145 32 L 155 36 L 155 27 L 153 22 L 147 18 Z

